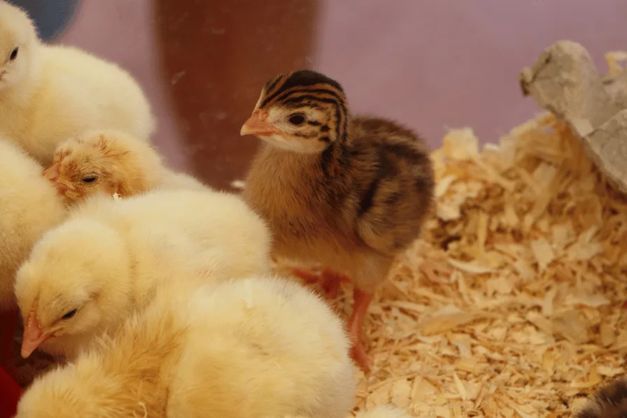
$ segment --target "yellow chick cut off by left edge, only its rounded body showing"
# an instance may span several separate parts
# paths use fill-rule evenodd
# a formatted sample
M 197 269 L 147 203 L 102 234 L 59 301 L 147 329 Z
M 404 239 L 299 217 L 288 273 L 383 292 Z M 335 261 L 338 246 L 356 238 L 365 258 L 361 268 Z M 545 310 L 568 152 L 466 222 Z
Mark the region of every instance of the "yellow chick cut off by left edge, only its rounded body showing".
M 15 271 L 43 233 L 66 216 L 63 201 L 41 177 L 43 167 L 0 138 L 0 365 L 13 357 L 17 305 Z

